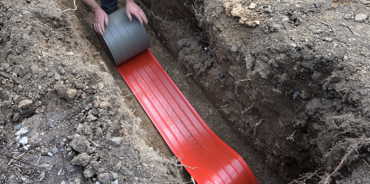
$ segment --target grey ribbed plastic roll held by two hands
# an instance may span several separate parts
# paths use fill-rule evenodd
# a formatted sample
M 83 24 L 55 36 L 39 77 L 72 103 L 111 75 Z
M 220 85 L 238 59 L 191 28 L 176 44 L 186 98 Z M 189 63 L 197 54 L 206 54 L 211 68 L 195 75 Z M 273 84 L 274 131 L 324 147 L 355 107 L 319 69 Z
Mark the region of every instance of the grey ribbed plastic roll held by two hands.
M 129 21 L 126 8 L 108 15 L 108 25 L 104 23 L 105 34 L 97 34 L 109 58 L 115 66 L 136 56 L 150 47 L 148 34 L 140 21 L 132 15 Z

